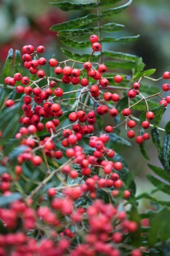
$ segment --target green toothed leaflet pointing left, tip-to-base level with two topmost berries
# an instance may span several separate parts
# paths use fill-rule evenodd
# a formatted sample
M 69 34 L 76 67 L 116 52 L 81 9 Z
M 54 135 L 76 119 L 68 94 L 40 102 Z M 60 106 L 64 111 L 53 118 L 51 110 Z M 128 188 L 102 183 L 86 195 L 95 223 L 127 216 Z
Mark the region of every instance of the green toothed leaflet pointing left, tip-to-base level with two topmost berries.
M 63 37 L 63 35 L 58 35 L 59 40 L 66 46 L 69 46 L 71 48 L 75 49 L 83 49 L 91 46 L 90 41 L 75 41 L 68 37 Z

